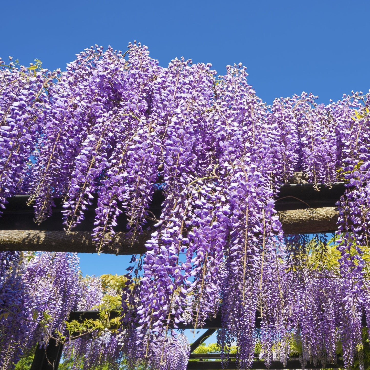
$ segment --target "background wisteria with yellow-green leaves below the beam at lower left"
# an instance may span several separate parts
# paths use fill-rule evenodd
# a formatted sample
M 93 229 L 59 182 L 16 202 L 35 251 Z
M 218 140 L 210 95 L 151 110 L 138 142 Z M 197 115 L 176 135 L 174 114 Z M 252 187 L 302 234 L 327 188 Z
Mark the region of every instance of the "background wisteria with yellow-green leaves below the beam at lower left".
M 51 337 L 64 344 L 63 356 L 71 361 L 71 369 L 118 370 L 122 361 L 141 366 L 143 359 L 125 342 L 127 329 L 120 327 L 121 318 L 110 318 L 111 310 L 119 310 L 125 300 L 124 276 L 82 278 L 78 258 L 71 253 L 0 256 L 0 369 L 12 369 L 23 354 L 45 347 Z M 100 310 L 101 318 L 68 322 L 76 309 Z M 153 369 L 159 362 L 163 369 L 168 369 L 168 362 L 170 369 L 186 369 L 189 343 L 183 334 L 177 340 L 170 334 L 164 346 L 151 344 L 151 349 L 157 352 L 151 359 Z

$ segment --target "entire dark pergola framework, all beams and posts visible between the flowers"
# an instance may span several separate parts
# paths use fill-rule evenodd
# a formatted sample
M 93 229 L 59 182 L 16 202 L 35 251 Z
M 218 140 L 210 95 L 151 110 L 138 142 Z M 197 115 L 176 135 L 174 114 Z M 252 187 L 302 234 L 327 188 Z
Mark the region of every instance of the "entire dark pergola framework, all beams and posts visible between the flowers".
M 330 187 L 320 186 L 319 191 L 315 190 L 312 184 L 283 185 L 275 199 L 275 209 L 278 212 L 284 233 L 310 234 L 336 231 L 339 215 L 336 203 L 344 194 L 345 189 L 344 183 L 334 183 Z M 33 222 L 33 208 L 26 205 L 27 199 L 27 195 L 8 198 L 9 204 L 3 210 L 3 215 L 0 218 L 0 250 L 95 253 L 90 233 L 93 228 L 96 202 L 84 212 L 85 219 L 75 231 L 66 234 L 62 225 L 61 199 L 55 199 L 56 208 L 53 209 L 53 215 L 41 225 Z M 121 215 L 112 248 L 105 253 L 121 255 L 144 253 L 146 251 L 145 242 L 150 238 L 155 218 L 159 218 L 161 215 L 163 199 L 160 191 L 154 194 L 153 202 L 149 208 L 153 217 L 148 220 L 147 229 L 133 246 L 128 242 L 125 232 L 125 218 L 124 215 Z M 70 314 L 69 319 L 83 320 L 98 317 L 98 311 L 74 311 Z M 363 324 L 366 325 L 364 320 Z M 258 320 L 256 326 L 259 326 Z M 203 329 L 207 329 L 206 332 L 191 345 L 190 359 L 198 359 L 199 361 L 189 361 L 188 370 L 222 369 L 221 361 L 217 361 L 220 358 L 219 354 L 194 353 L 194 350 L 220 327 L 220 316 L 207 320 L 203 326 Z M 192 326 L 179 326 L 179 328 L 193 329 Z M 46 348 L 36 350 L 31 370 L 57 370 L 62 350 L 63 345 L 51 339 Z M 343 361 L 338 360 L 336 364 L 326 364 L 325 366 L 320 363 L 307 366 L 310 369 L 335 369 L 343 367 Z M 279 361 L 273 361 L 270 368 L 300 369 L 301 364 L 298 358 L 291 358 L 285 367 Z M 232 356 L 227 369 L 237 369 Z M 256 359 L 253 361 L 252 369 L 266 369 L 265 362 Z

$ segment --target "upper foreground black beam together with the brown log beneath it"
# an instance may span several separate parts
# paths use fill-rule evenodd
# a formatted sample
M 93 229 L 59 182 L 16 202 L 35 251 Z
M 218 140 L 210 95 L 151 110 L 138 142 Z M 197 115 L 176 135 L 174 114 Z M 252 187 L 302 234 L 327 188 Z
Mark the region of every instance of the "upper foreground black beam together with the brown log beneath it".
M 344 193 L 343 183 L 331 188 L 321 187 L 316 191 L 312 184 L 289 184 L 280 188 L 275 208 L 278 211 L 283 231 L 286 234 L 334 232 L 337 229 L 338 210 L 336 202 Z M 62 222 L 61 199 L 56 204 L 53 215 L 37 225 L 33 222 L 33 208 L 26 205 L 28 196 L 18 195 L 8 198 L 9 204 L 0 218 L 0 250 L 32 250 L 52 252 L 94 253 L 91 237 L 94 228 L 95 206 L 85 211 L 85 219 L 73 232 L 65 233 Z M 161 214 L 161 192 L 154 194 L 149 210 L 155 217 Z M 95 201 L 96 203 L 96 201 Z M 122 214 L 112 237 L 108 253 L 139 254 L 146 251 L 145 243 L 150 239 L 154 221 L 148 220 L 145 230 L 132 245 L 127 234 L 127 220 Z

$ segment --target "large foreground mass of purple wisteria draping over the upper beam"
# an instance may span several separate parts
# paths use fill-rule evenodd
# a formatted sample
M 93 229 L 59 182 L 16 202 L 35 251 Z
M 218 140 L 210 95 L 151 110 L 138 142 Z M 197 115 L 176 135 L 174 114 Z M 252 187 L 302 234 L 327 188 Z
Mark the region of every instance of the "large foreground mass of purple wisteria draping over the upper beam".
M 40 223 L 53 198 L 63 198 L 70 232 L 96 197 L 91 232 L 102 251 L 121 213 L 134 243 L 153 216 L 155 184 L 165 184 L 148 251 L 126 275 L 116 347 L 109 330 L 102 339 L 110 353 L 125 344 L 133 367 L 139 357 L 167 369 L 176 324 L 201 327 L 219 310 L 224 361 L 236 342 L 241 368 L 252 364 L 256 343 L 266 363 L 286 363 L 293 338 L 302 366 L 335 362 L 338 343 L 351 366 L 363 312 L 370 322 L 370 93 L 324 105 L 303 92 L 268 106 L 241 64 L 217 76 L 211 64 L 175 59 L 163 68 L 148 54 L 136 43 L 124 54 L 95 46 L 63 73 L 3 65 L 1 206 L 30 194 Z M 275 197 L 295 172 L 318 190 L 348 183 L 332 265 L 324 236 L 283 235 Z

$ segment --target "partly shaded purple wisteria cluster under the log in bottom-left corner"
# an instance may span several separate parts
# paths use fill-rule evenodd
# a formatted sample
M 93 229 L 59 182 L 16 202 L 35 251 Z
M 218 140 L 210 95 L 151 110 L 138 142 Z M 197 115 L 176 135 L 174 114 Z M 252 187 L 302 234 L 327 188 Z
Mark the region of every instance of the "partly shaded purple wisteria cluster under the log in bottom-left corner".
M 78 259 L 71 253 L 1 252 L 0 369 L 65 332 L 76 308 Z

